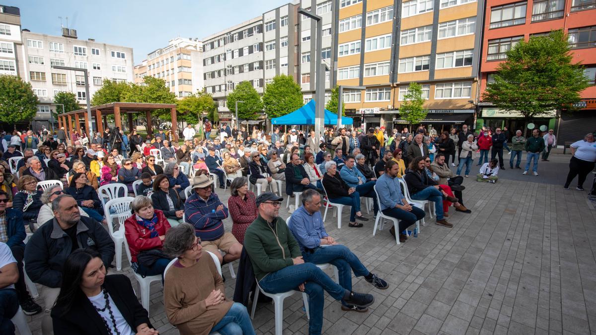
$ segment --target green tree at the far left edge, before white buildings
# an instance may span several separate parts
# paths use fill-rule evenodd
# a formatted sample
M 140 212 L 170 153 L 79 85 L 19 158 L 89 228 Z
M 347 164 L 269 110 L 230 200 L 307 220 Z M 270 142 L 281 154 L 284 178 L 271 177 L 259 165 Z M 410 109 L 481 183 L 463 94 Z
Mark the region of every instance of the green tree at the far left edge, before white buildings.
M 38 104 L 39 99 L 30 83 L 20 77 L 0 76 L 0 121 L 13 125 L 30 122 L 37 113 Z

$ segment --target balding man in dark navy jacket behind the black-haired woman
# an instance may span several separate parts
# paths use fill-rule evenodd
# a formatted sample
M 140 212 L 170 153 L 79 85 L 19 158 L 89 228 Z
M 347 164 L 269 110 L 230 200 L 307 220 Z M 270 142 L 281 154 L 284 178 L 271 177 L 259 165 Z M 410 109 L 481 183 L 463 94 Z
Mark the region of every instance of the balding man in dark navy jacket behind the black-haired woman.
M 55 218 L 39 227 L 25 247 L 25 271 L 43 286 L 45 303 L 42 333 L 52 334 L 49 315 L 60 293 L 62 267 L 74 250 L 90 247 L 101 254 L 105 268 L 114 260 L 114 241 L 105 228 L 92 218 L 80 216 L 75 198 L 62 194 L 52 201 Z

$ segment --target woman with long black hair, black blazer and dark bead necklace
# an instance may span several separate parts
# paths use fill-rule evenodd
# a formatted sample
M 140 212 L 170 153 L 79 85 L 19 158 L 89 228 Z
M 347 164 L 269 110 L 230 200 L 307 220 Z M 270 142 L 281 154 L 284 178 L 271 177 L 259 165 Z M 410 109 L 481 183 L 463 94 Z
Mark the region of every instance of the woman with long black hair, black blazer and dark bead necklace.
M 97 251 L 77 249 L 70 254 L 51 312 L 55 334 L 157 334 L 131 280 L 106 273 Z

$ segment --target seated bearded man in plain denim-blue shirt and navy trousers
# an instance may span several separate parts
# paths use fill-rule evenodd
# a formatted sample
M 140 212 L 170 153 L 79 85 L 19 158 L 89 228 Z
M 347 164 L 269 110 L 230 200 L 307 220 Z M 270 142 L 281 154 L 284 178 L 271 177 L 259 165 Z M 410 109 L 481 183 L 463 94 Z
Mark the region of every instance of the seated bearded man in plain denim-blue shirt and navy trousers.
M 398 173 L 399 164 L 395 160 L 387 162 L 385 173 L 377 179 L 376 188 L 381 201 L 381 212 L 399 220 L 399 241 L 404 243 L 407 237 L 402 234 L 402 231 L 415 224 L 416 221 L 423 219 L 426 214 L 424 210 L 409 204 L 403 196 L 397 178 Z M 392 227 L 389 232 L 395 237 L 395 227 Z

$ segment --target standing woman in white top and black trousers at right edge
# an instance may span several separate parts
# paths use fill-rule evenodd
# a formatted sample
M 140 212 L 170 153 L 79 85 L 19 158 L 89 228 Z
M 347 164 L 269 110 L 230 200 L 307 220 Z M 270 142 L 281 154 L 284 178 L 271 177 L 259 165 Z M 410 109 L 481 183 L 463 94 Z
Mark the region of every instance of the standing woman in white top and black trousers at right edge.
M 594 134 L 588 133 L 583 141 L 577 141 L 571 145 L 571 160 L 569 161 L 569 173 L 563 188 L 569 189 L 569 184 L 573 181 L 575 176 L 578 176 L 579 191 L 583 191 L 583 182 L 586 181 L 586 176 L 594 169 L 594 162 L 596 162 L 596 142 L 594 142 Z

